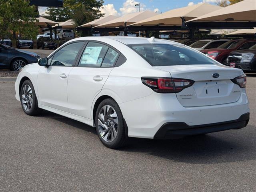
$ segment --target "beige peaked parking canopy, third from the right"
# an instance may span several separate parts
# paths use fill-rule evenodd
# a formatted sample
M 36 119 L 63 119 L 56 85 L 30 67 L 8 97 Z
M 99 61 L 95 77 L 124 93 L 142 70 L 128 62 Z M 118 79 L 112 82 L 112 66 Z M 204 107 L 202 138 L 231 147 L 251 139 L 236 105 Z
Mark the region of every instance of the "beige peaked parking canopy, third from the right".
M 157 13 L 146 10 L 146 11 L 142 11 L 142 12 L 126 14 L 122 17 L 116 18 L 109 22 L 105 22 L 96 27 L 118 27 L 118 26 L 124 26 L 124 23 L 126 23 L 126 25 L 130 25 L 130 24 L 136 23 L 138 21 L 144 20 L 146 18 L 156 16 L 156 15 L 157 15 Z

